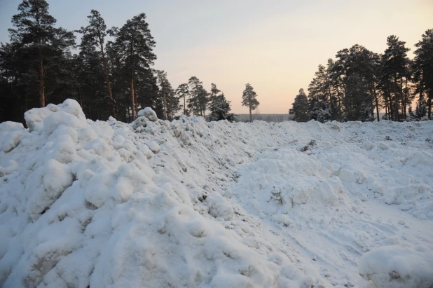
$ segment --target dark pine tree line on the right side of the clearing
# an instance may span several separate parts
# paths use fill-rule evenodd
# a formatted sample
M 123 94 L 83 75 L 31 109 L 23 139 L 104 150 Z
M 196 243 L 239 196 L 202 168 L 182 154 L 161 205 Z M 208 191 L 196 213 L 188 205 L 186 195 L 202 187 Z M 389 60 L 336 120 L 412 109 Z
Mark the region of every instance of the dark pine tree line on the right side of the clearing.
M 298 122 L 380 121 L 380 110 L 391 121 L 431 119 L 433 29 L 422 34 L 415 48 L 411 60 L 406 42 L 392 35 L 383 54 L 358 44 L 339 50 L 336 60 L 319 65 L 308 95 L 299 90 L 289 114 Z

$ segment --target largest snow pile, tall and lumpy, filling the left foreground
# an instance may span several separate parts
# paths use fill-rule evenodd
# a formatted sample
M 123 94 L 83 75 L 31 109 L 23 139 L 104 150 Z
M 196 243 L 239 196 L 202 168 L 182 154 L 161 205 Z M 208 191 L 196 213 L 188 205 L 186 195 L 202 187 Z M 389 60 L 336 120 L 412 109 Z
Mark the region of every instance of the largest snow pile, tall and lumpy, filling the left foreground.
M 20 132 L 1 155 L 15 166 L 1 179 L 3 287 L 276 287 L 274 263 L 153 171 L 158 144 L 123 123 L 86 121 L 73 100 L 25 118 L 32 132 L 2 125 Z

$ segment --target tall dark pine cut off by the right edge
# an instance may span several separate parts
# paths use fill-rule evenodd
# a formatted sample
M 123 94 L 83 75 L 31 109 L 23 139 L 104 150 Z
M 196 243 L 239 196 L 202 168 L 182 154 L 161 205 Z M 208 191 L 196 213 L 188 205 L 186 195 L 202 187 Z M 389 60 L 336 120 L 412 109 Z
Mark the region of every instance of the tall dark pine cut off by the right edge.
M 432 118 L 433 101 L 433 29 L 422 34 L 422 39 L 415 44 L 413 59 L 415 92 L 418 93 L 417 107 L 425 105 L 427 97 L 427 117 Z M 422 108 L 420 108 L 422 109 Z

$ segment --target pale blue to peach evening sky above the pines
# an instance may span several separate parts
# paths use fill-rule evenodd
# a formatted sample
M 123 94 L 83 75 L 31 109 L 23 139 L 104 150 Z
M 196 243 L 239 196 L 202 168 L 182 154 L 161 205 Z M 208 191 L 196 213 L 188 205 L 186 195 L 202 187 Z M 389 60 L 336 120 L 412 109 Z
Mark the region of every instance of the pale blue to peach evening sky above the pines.
M 0 0 L 0 41 L 21 0 Z M 319 64 L 337 51 L 360 44 L 383 53 L 392 34 L 414 44 L 433 29 L 433 0 L 48 0 L 57 26 L 87 25 L 91 9 L 107 27 L 146 13 L 156 41 L 155 69 L 167 71 L 173 88 L 197 76 L 205 88 L 217 84 L 232 111 L 242 107 L 250 83 L 259 113 L 286 114 L 305 91 Z M 79 38 L 79 35 L 77 35 Z M 79 40 L 78 40 L 79 41 Z

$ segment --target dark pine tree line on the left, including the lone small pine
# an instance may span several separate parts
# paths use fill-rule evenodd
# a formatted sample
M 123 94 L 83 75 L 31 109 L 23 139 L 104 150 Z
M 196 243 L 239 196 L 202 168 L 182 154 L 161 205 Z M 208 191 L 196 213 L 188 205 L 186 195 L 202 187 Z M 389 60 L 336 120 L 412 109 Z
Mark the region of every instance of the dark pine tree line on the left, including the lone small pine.
M 48 8 L 46 0 L 23 0 L 8 29 L 10 42 L 1 43 L 0 122 L 24 123 L 25 111 L 67 98 L 77 100 L 92 120 L 114 116 L 130 122 L 144 107 L 165 120 L 177 114 L 234 120 L 230 101 L 214 83 L 208 92 L 192 76 L 174 89 L 165 71 L 152 68 L 156 41 L 144 13 L 108 28 L 92 10 L 87 26 L 68 31 L 55 26 Z M 250 114 L 259 105 L 249 84 L 242 104 Z

